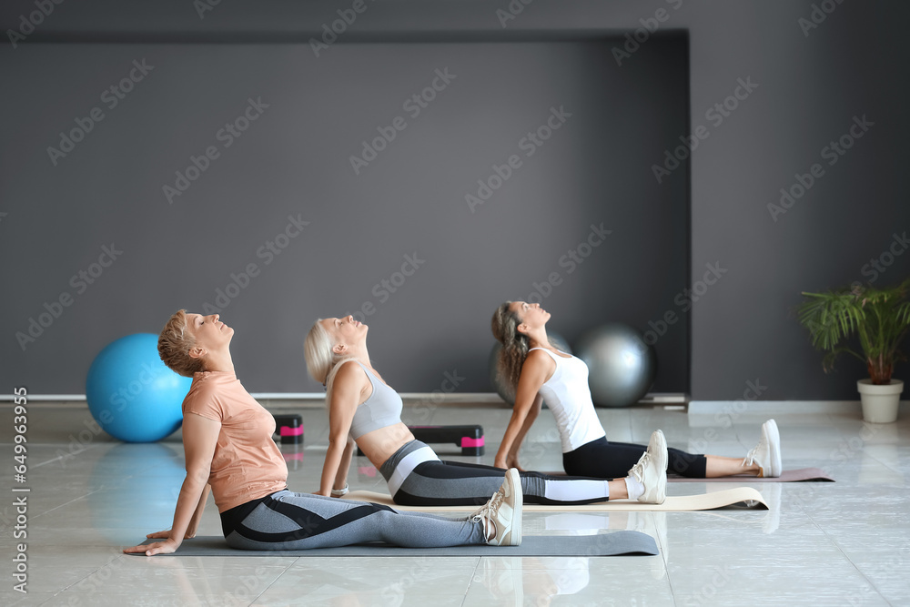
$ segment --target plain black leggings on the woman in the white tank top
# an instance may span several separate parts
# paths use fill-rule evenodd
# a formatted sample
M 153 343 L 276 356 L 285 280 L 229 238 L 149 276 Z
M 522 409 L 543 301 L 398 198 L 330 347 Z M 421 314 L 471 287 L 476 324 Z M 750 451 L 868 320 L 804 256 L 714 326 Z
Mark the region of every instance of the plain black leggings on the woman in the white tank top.
M 587 476 L 598 479 L 619 479 L 629 474 L 638 463 L 645 445 L 628 442 L 607 442 L 606 437 L 591 440 L 576 450 L 562 454 L 562 468 L 572 476 Z M 703 479 L 708 460 L 703 455 L 667 448 L 668 473 L 679 474 L 690 479 Z

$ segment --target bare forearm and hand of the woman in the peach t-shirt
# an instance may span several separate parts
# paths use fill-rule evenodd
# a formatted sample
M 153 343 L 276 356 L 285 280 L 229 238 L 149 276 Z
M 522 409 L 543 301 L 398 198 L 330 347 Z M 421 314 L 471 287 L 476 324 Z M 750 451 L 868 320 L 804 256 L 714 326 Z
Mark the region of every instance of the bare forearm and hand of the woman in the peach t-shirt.
M 153 554 L 176 551 L 184 538 L 190 524 L 196 517 L 197 511 L 201 516 L 199 502 L 203 496 L 207 498 L 208 476 L 212 468 L 212 458 L 215 455 L 215 445 L 218 433 L 221 431 L 221 422 L 208 420 L 195 413 L 187 413 L 183 420 L 183 444 L 187 457 L 187 478 L 183 481 L 180 496 L 177 498 L 177 508 L 174 511 L 174 524 L 167 531 L 165 541 L 157 541 L 147 546 L 133 546 L 126 548 L 125 552 L 145 552 L 147 556 Z M 205 506 L 203 505 L 203 508 Z M 198 522 L 198 521 L 197 521 Z M 194 529 L 195 533 L 196 530 Z M 150 534 L 149 537 L 163 537 L 165 531 Z

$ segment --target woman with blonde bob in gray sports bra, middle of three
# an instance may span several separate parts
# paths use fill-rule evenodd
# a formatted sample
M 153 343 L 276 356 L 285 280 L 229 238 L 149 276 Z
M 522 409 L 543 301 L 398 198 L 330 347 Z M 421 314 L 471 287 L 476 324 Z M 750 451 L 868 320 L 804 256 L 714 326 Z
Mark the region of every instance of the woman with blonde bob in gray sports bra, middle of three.
M 389 484 L 401 505 L 470 505 L 486 501 L 506 470 L 459 461 L 442 461 L 415 440 L 400 417 L 401 398 L 372 368 L 367 325 L 351 316 L 319 319 L 309 330 L 304 351 L 310 376 L 326 388 L 329 450 L 322 468 L 321 495 L 347 491 L 354 444 Z M 644 450 L 618 480 L 551 477 L 521 471 L 526 503 L 571 504 L 637 499 L 662 503 L 666 487 L 666 443 L 655 432 Z M 631 470 L 630 470 L 631 469 Z M 631 478 L 626 477 L 627 471 Z

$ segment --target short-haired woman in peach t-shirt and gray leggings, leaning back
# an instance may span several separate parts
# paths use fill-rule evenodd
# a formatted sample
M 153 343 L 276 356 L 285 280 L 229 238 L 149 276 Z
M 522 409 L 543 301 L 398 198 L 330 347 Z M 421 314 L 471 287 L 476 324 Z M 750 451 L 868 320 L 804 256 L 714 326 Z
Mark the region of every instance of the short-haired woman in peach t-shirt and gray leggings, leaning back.
M 272 440 L 275 420 L 234 375 L 234 329 L 217 314 L 180 310 L 161 331 L 158 352 L 193 378 L 183 402 L 187 479 L 168 531 L 126 548 L 147 556 L 177 551 L 196 535 L 211 491 L 227 544 L 245 550 L 298 550 L 381 541 L 410 547 L 521 543 L 521 481 L 510 470 L 499 491 L 470 516 L 448 519 L 387 506 L 288 491 L 288 467 Z

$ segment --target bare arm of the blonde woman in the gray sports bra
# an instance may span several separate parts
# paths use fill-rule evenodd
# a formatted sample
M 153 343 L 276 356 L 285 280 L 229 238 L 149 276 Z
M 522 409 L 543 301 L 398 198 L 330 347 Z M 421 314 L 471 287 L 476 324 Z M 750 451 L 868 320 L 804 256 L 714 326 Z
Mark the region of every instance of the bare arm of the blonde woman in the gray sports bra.
M 348 477 L 350 453 L 353 452 L 353 445 L 348 441 L 348 433 L 350 422 L 354 419 L 354 410 L 359 405 L 364 382 L 369 382 L 369 379 L 363 369 L 356 364 L 345 363 L 335 376 L 332 400 L 329 402 L 329 450 L 326 451 L 326 461 L 322 464 L 319 495 L 331 495 L 332 485 L 339 480 L 339 476 L 345 479 Z

